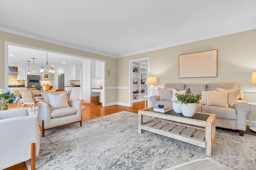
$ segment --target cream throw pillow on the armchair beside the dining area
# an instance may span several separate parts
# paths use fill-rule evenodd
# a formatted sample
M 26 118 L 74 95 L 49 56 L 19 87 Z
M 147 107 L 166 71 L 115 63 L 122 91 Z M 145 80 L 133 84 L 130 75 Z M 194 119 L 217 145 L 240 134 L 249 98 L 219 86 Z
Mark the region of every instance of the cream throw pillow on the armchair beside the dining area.
M 62 93 L 60 95 L 48 94 L 50 109 L 57 109 L 61 107 L 70 107 L 68 105 L 68 97 L 66 93 Z

